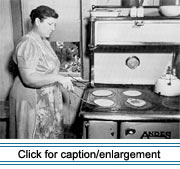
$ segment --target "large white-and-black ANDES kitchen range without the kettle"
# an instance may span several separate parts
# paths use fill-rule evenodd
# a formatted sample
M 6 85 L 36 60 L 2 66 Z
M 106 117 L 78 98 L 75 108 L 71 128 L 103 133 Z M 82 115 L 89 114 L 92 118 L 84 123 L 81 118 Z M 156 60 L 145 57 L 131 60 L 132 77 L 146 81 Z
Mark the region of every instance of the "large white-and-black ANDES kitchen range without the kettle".
M 180 96 L 161 96 L 154 85 L 179 52 L 180 18 L 104 17 L 93 11 L 90 23 L 83 138 L 179 138 Z

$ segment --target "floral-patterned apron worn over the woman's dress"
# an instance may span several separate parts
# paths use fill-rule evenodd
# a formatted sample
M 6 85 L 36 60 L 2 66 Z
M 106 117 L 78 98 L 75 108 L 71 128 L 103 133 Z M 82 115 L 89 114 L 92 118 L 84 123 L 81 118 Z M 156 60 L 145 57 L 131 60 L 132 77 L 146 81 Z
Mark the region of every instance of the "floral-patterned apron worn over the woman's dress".
M 56 62 L 48 62 L 45 56 L 57 57 L 55 53 L 52 52 L 50 46 L 48 49 L 47 43 L 40 44 L 36 38 L 30 35 L 26 35 L 32 38 L 36 44 L 39 46 L 43 55 L 40 55 L 41 62 L 44 63 L 45 69 L 43 69 L 43 73 L 57 73 L 57 61 Z M 45 43 L 45 42 L 44 42 Z M 45 52 L 45 49 L 49 50 L 49 55 Z M 47 51 L 46 50 L 46 51 Z M 54 56 L 53 56 L 54 55 Z M 43 57 L 44 56 L 44 57 Z M 58 58 L 57 58 L 58 59 Z M 32 138 L 34 139 L 59 139 L 64 138 L 64 130 L 63 130 L 63 100 L 62 100 L 62 92 L 61 85 L 59 83 L 54 83 L 40 89 L 35 89 L 35 124 L 34 130 L 32 133 Z

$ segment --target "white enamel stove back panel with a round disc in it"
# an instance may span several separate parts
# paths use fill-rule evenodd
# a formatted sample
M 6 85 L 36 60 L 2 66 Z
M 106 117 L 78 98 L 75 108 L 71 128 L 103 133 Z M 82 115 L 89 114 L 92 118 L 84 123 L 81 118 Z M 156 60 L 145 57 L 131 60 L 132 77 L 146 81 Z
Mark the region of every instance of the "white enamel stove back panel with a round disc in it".
M 172 63 L 172 53 L 94 52 L 93 56 L 91 81 L 100 84 L 154 85 Z

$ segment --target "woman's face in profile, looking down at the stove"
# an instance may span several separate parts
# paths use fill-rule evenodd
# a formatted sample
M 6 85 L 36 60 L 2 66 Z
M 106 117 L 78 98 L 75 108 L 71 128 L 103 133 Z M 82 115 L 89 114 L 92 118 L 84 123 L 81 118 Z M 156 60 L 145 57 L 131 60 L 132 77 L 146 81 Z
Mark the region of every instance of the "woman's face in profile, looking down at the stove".
M 41 37 L 49 38 L 51 33 L 55 30 L 57 19 L 53 17 L 48 17 L 40 21 L 36 18 L 36 26 L 38 29 L 38 33 Z

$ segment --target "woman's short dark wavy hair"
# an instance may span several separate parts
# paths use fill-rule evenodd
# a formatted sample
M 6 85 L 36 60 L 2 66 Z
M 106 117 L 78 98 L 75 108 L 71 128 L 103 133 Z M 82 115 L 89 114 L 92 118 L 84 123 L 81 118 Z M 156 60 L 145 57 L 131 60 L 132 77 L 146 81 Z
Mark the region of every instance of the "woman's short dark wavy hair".
M 54 9 L 44 5 L 39 6 L 36 9 L 33 9 L 30 14 L 32 24 L 34 24 L 36 18 L 39 18 L 42 21 L 47 17 L 58 18 L 58 14 Z

